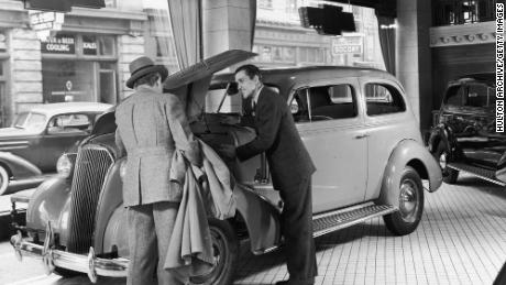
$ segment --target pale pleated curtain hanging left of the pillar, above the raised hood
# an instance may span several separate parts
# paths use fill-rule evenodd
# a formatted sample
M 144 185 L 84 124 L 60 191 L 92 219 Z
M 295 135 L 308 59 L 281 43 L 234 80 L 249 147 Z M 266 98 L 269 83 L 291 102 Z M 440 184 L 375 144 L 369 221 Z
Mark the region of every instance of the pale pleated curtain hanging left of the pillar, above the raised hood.
M 200 0 L 168 0 L 168 12 L 177 62 L 183 69 L 201 59 Z

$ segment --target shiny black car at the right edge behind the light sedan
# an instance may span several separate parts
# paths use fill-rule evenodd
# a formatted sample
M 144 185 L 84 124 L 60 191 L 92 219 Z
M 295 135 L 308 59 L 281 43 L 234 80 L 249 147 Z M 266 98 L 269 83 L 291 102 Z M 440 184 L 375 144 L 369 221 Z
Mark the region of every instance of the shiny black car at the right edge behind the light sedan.
M 495 74 L 473 74 L 449 83 L 429 147 L 443 180 L 465 172 L 506 186 L 506 134 L 496 131 Z

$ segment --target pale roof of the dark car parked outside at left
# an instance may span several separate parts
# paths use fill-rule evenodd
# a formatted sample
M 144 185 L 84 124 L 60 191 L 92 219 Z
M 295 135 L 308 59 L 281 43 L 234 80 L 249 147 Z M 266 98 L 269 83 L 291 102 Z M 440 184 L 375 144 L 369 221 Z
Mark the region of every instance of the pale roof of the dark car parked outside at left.
M 44 113 L 47 116 L 55 116 L 58 113 L 72 112 L 96 112 L 102 113 L 113 106 L 110 103 L 99 102 L 61 102 L 61 103 L 44 103 L 33 107 L 30 111 Z

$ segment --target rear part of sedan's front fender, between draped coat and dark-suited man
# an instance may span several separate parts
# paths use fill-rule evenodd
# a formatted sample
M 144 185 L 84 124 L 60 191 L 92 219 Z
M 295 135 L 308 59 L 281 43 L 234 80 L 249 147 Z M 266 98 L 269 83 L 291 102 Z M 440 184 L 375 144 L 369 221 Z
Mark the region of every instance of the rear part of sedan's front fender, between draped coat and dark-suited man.
M 251 251 L 261 254 L 279 245 L 279 210 L 246 186 L 238 185 L 233 195 L 237 210 L 246 223 Z

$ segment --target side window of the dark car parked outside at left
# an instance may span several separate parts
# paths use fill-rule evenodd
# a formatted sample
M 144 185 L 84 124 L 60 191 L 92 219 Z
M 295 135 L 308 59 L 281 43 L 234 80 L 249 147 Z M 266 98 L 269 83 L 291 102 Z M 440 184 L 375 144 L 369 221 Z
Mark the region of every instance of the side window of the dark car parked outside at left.
M 51 119 L 47 132 L 48 133 L 67 133 L 90 131 L 91 120 L 87 114 L 70 113 L 58 114 Z

